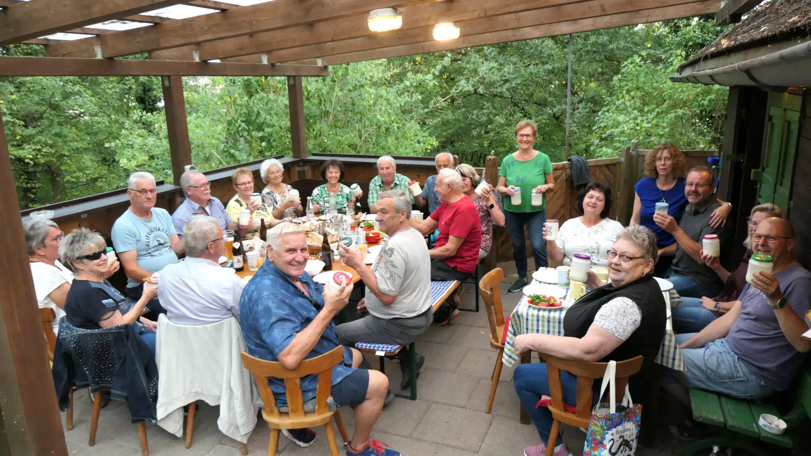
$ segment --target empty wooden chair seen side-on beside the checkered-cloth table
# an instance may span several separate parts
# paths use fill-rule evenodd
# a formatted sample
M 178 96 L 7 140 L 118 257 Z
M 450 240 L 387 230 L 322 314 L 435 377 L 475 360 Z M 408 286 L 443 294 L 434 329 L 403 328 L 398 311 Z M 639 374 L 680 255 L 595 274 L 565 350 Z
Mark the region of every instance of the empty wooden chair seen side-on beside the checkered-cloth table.
M 487 407 L 484 411 L 490 413 L 493 407 L 493 398 L 496 398 L 496 388 L 499 387 L 501 377 L 501 356 L 504 355 L 504 336 L 509 326 L 509 317 L 504 319 L 504 310 L 501 307 L 501 291 L 499 284 L 504 282 L 504 271 L 501 268 L 491 270 L 484 274 L 478 282 L 478 290 L 484 300 L 484 309 L 487 312 L 487 321 L 490 323 L 490 346 L 496 352 L 496 365 L 493 366 L 493 375 L 490 382 L 490 396 L 487 397 Z

